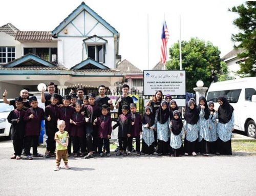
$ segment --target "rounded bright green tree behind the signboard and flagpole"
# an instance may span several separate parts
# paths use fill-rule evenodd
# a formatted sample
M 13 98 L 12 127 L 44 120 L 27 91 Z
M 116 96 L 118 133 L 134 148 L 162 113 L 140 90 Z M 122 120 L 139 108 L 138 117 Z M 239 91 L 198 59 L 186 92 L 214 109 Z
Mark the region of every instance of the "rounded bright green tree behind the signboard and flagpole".
M 191 38 L 182 41 L 182 69 L 186 71 L 186 91 L 194 92 L 198 80 L 209 87 L 214 73 L 220 70 L 220 51 L 211 42 Z M 166 63 L 167 70 L 179 70 L 179 42 L 169 49 L 170 60 Z

